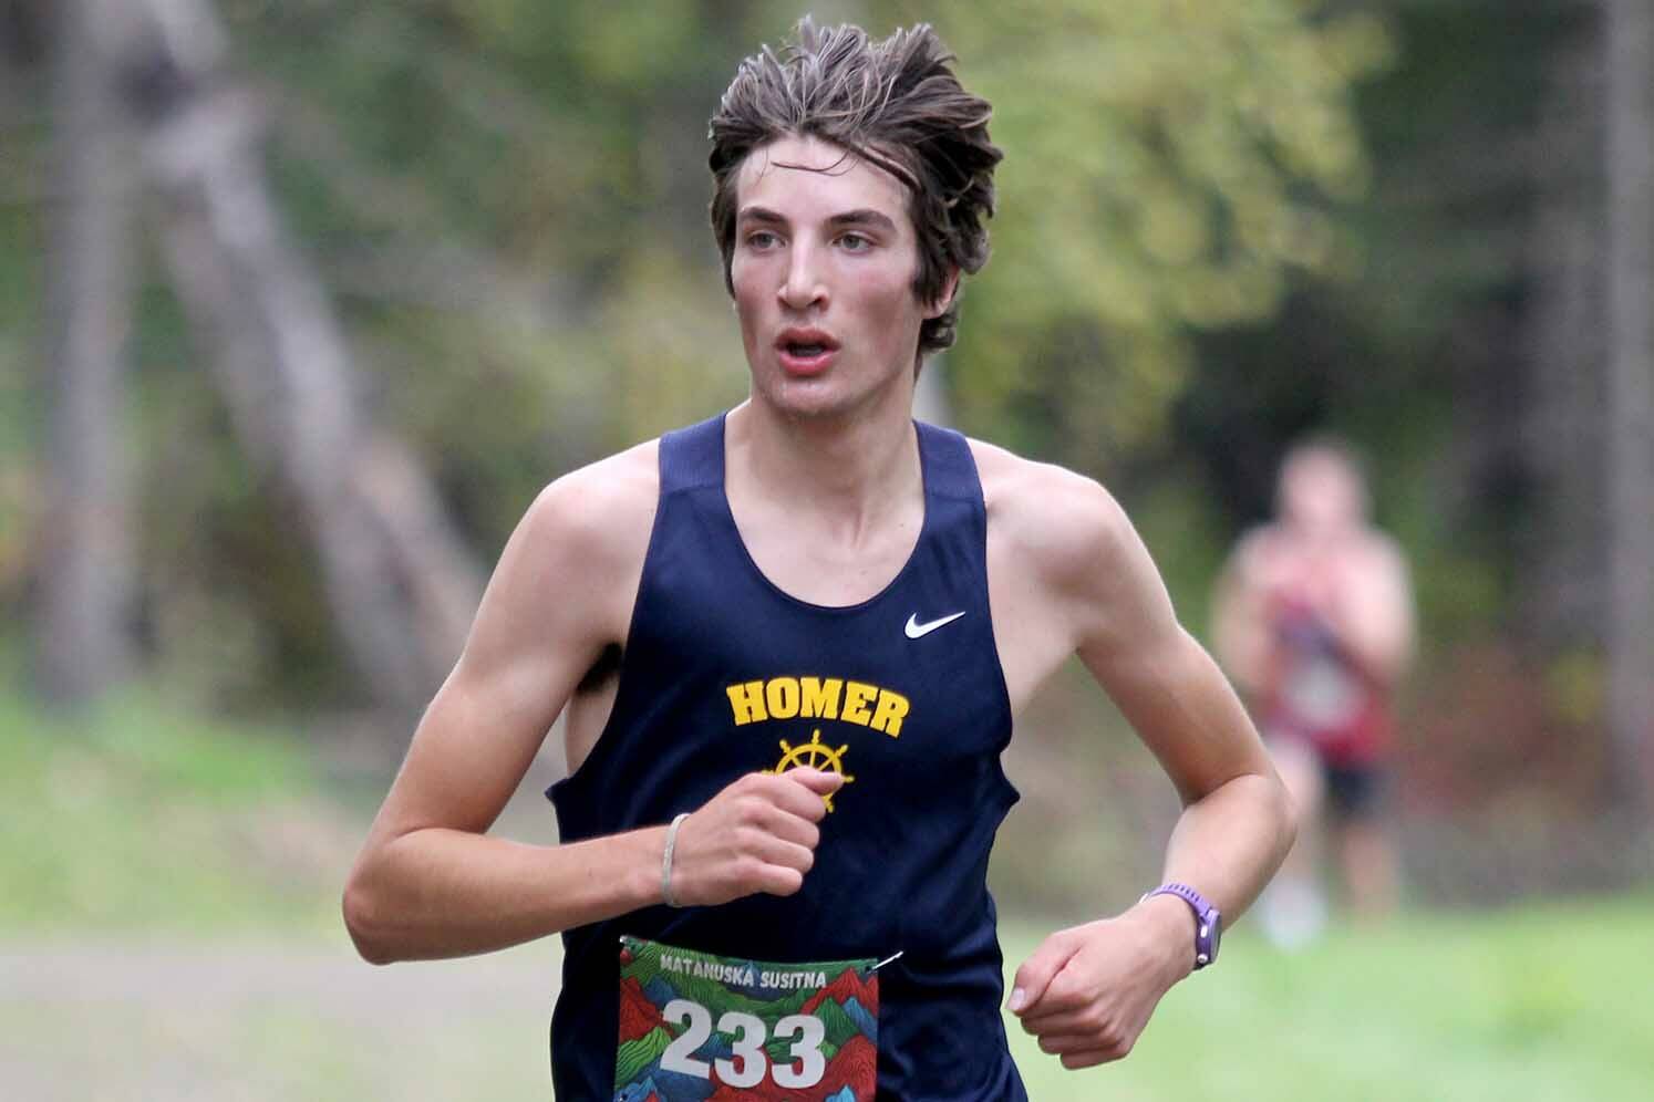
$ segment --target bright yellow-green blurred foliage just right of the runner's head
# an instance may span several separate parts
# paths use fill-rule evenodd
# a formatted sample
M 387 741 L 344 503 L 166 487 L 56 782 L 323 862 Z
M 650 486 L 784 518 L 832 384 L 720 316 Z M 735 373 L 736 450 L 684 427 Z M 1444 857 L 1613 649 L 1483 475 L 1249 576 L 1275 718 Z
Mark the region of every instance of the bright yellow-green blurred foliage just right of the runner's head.
M 943 23 L 1006 150 L 953 357 L 973 423 L 1100 469 L 1163 436 L 1191 329 L 1356 268 L 1335 216 L 1370 175 L 1351 91 L 1391 43 L 1368 13 L 1307 12 L 1047 2 Z

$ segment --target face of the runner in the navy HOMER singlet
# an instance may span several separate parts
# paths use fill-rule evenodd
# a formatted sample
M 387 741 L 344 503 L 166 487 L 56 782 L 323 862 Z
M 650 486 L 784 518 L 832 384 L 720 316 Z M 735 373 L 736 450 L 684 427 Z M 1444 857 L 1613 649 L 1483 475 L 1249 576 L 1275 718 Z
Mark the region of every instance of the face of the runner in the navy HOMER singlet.
M 753 150 L 736 178 L 729 278 L 753 397 L 796 416 L 911 403 L 920 324 L 908 190 L 810 137 Z

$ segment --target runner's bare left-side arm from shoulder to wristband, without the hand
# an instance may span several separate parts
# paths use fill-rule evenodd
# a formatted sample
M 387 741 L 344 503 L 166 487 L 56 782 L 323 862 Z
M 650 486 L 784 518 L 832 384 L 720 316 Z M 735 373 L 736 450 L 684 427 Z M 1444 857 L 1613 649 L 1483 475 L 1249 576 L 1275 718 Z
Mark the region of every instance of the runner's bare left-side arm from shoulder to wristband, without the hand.
M 346 925 L 367 960 L 480 953 L 658 902 L 663 828 L 567 846 L 485 834 L 614 641 L 602 601 L 635 593 L 638 567 L 617 545 L 627 524 L 602 527 L 614 497 L 559 479 L 506 544 L 351 871 Z

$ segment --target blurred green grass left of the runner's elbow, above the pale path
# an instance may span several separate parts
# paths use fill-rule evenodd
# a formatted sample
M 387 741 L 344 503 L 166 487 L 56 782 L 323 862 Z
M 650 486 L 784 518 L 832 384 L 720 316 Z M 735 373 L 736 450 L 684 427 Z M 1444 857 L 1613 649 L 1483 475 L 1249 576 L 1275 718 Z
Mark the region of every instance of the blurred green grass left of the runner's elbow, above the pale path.
M 0 692 L 0 929 L 336 927 L 361 834 L 299 745 L 144 694 L 63 715 Z

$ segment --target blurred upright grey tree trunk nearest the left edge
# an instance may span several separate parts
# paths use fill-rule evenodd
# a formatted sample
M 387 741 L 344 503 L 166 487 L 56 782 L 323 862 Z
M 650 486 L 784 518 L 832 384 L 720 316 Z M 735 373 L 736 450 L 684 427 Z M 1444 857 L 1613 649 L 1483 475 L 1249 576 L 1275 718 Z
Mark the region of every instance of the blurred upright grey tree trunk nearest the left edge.
M 119 0 L 61 0 L 56 10 L 50 514 L 36 638 L 40 684 L 58 702 L 98 696 L 129 658 L 119 410 L 136 180 L 109 48 L 121 18 Z

